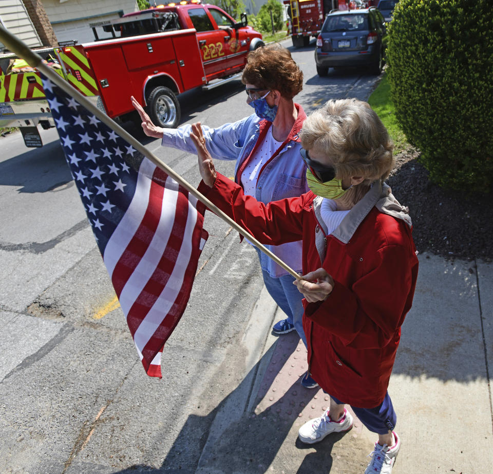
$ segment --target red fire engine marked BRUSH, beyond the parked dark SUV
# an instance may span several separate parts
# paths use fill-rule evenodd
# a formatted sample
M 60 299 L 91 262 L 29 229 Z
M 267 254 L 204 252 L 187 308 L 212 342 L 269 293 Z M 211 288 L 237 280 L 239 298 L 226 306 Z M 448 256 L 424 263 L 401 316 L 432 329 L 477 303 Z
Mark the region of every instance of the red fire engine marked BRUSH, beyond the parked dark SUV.
M 325 16 L 332 10 L 355 10 L 373 0 L 284 0 L 288 21 L 288 34 L 293 46 L 302 48 L 310 44 L 310 37 L 316 38 L 324 23 Z

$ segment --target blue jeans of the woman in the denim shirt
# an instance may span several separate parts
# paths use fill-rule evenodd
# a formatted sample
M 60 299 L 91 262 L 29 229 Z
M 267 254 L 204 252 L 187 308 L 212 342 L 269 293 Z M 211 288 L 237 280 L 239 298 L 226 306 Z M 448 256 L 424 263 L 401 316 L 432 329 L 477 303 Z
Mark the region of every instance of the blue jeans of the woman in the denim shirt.
M 296 329 L 305 347 L 307 347 L 307 338 L 305 337 L 302 323 L 304 309 L 301 300 L 303 295 L 293 285 L 295 278 L 291 275 L 274 278 L 266 270 L 262 270 L 262 276 L 269 295 L 272 296 L 272 299 L 282 311 L 287 314 L 288 321 L 294 324 L 294 329 Z

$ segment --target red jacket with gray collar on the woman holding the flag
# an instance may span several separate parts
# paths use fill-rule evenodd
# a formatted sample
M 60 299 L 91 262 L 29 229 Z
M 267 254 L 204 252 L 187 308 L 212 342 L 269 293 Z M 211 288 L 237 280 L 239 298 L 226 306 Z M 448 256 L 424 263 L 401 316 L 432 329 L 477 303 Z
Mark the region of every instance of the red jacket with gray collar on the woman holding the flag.
M 263 244 L 302 239 L 304 274 L 323 267 L 335 282 L 325 301 L 303 300 L 312 377 L 344 403 L 380 405 L 418 276 L 407 208 L 374 183 L 326 235 L 312 192 L 265 205 L 219 173 L 199 191 Z

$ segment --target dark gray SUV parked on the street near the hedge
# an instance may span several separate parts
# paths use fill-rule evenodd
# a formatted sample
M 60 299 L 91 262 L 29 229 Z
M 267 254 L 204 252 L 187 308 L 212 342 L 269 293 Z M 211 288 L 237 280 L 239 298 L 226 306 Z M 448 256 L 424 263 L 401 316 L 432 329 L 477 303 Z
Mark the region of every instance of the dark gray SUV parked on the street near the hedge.
M 387 41 L 385 19 L 375 7 L 329 13 L 317 38 L 315 62 L 319 76 L 329 67 L 370 67 L 382 72 Z

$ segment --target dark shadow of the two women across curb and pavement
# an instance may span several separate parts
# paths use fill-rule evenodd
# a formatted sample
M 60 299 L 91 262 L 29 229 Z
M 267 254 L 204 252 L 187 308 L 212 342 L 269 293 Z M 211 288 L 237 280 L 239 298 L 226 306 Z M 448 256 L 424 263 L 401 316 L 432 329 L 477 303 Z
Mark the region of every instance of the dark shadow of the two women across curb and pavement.
M 293 350 L 295 348 L 296 345 L 292 346 Z M 169 474 L 175 472 L 202 472 L 216 474 L 241 472 L 242 474 L 261 474 L 268 470 L 282 449 L 297 451 L 298 457 L 300 454 L 302 455 L 299 450 L 304 450 L 311 446 L 297 441 L 296 434 L 293 434 L 293 425 L 298 419 L 298 410 L 293 408 L 292 411 L 289 410 L 290 414 L 287 415 L 286 408 L 289 408 L 288 394 L 293 390 L 297 390 L 302 393 L 301 399 L 304 400 L 304 403 L 308 404 L 316 391 L 302 389 L 299 385 L 300 379 L 296 375 L 296 381 L 287 389 L 283 402 L 278 401 L 263 411 L 255 410 L 260 401 L 259 398 L 264 393 L 259 393 L 260 396 L 256 396 L 255 393 L 250 394 L 251 385 L 258 371 L 262 370 L 261 366 L 269 363 L 271 357 L 269 352 L 243 378 L 240 385 L 222 399 L 207 416 L 193 414 L 188 416 L 172 448 L 159 468 L 152 468 L 148 465 L 134 465 L 118 471 L 118 473 L 166 472 Z M 291 353 L 286 353 L 283 355 L 283 360 L 278 359 L 279 366 L 285 363 L 291 355 Z M 255 397 L 253 410 L 247 411 L 249 400 L 252 397 Z M 235 407 L 236 410 L 232 409 L 232 407 Z M 281 410 L 282 413 L 279 413 Z M 219 423 L 217 423 L 218 419 L 215 420 L 216 416 L 219 419 Z M 213 427 L 216 426 L 216 428 L 213 428 L 211 433 L 203 432 L 204 428 L 209 427 L 211 423 L 214 423 Z M 218 424 L 223 424 L 224 428 L 217 428 Z M 187 452 L 187 443 L 194 437 L 197 439 L 197 430 L 202 430 L 203 432 L 200 439 L 200 443 L 203 443 L 203 446 L 201 447 L 202 454 L 200 459 L 195 460 L 196 468 L 194 469 L 189 458 L 191 453 Z M 325 472 L 329 472 L 332 466 L 332 446 L 342 436 L 343 434 L 326 438 L 320 443 L 320 449 L 311 452 L 309 457 L 302 461 L 299 468 L 293 465 L 298 461 L 295 458 L 293 459 L 292 455 L 287 455 L 286 472 L 308 474 L 314 472 L 313 466 L 317 466 L 318 469 L 321 465 L 324 465 Z

